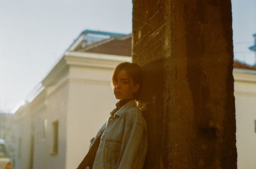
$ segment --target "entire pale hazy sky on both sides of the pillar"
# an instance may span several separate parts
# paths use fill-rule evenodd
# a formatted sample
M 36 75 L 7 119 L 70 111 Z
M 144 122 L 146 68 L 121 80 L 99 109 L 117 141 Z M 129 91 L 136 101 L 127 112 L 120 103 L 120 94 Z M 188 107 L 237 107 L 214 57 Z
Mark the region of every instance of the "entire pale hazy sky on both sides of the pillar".
M 234 57 L 253 64 L 256 1 L 232 0 Z M 0 0 L 0 110 L 12 112 L 85 29 L 132 32 L 131 0 Z

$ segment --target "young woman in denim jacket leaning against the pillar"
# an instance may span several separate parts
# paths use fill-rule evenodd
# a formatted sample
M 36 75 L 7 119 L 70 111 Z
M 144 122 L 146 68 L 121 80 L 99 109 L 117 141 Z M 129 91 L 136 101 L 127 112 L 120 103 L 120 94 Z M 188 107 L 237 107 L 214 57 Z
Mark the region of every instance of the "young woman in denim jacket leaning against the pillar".
M 138 64 L 122 62 L 113 71 L 113 94 L 118 99 L 108 121 L 91 140 L 77 169 L 141 169 L 148 149 L 147 124 L 136 107 L 141 87 Z

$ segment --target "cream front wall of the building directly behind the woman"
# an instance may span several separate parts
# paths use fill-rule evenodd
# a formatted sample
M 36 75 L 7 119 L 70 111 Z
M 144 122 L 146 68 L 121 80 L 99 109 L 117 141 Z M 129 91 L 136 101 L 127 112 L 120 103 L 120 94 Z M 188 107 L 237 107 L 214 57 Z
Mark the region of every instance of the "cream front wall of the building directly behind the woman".
M 90 140 L 115 108 L 110 84 L 112 71 L 113 68 L 70 67 L 67 169 L 79 165 L 88 152 Z

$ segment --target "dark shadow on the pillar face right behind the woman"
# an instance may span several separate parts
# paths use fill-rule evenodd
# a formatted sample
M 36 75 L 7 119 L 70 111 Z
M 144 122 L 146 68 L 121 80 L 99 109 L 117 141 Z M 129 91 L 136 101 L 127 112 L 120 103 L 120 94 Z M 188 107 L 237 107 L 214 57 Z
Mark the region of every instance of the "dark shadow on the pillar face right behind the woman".
M 160 59 L 150 62 L 142 66 L 141 70 L 143 82 L 140 100 L 146 107 L 143 116 L 148 124 L 148 147 L 150 147 L 144 168 L 150 168 L 150 166 L 159 166 L 161 147 L 164 146 L 161 141 L 164 135 L 164 61 Z

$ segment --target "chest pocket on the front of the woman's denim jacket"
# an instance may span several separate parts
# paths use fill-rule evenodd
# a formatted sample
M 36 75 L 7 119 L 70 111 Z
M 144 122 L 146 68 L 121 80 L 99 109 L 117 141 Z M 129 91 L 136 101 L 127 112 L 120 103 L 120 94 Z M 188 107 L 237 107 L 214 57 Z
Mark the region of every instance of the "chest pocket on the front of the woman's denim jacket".
M 116 165 L 120 156 L 121 143 L 115 141 L 106 141 L 105 146 L 106 154 L 104 154 L 104 156 L 106 159 L 106 163 L 108 163 L 108 165 Z

